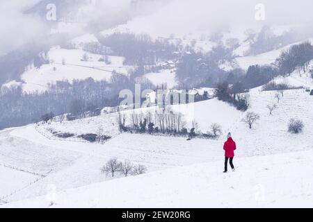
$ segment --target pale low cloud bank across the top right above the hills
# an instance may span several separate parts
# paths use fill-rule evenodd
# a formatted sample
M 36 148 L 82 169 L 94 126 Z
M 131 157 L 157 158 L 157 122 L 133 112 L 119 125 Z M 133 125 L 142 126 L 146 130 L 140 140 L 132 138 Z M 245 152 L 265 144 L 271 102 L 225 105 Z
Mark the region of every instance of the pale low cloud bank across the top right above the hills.
M 255 6 L 265 6 L 265 20 L 257 21 Z M 172 0 L 151 15 L 129 21 L 134 31 L 170 35 L 224 28 L 259 28 L 268 25 L 312 27 L 312 0 Z

